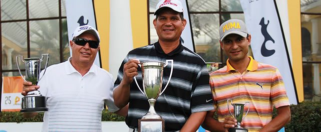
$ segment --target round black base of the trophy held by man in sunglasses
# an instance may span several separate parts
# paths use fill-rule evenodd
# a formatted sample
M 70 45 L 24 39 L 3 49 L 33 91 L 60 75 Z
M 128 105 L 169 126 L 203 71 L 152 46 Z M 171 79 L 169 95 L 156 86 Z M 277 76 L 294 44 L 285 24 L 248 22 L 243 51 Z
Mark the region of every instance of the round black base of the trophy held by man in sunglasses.
M 22 98 L 20 112 L 41 112 L 41 111 L 48 111 L 48 108 L 46 108 L 45 96 L 27 95 Z

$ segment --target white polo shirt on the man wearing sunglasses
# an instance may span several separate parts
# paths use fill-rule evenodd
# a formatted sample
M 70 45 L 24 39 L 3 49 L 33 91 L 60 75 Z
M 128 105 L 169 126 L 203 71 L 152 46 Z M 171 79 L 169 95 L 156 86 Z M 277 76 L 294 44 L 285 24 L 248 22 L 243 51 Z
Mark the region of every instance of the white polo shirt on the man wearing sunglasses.
M 114 104 L 112 75 L 95 64 L 84 76 L 70 61 L 52 65 L 38 85 L 49 109 L 42 131 L 102 131 L 104 102 L 109 111 L 119 109 Z

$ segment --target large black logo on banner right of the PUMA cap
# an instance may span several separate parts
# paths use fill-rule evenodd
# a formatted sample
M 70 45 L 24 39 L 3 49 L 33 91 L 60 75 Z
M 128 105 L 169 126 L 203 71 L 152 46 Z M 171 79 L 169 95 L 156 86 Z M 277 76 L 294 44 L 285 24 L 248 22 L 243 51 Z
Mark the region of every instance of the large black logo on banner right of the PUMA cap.
M 262 54 L 262 56 L 264 56 L 264 57 L 268 57 L 268 56 L 271 56 L 271 55 L 273 55 L 274 53 L 275 53 L 275 50 L 268 50 L 268 49 L 266 49 L 266 46 L 265 46 L 265 44 L 266 44 L 266 42 L 267 41 L 272 41 L 273 42 L 273 44 L 274 44 L 274 40 L 273 40 L 273 38 L 267 33 L 267 30 L 266 30 L 266 28 L 267 28 L 267 25 L 270 23 L 270 21 L 268 21 L 267 20 L 267 24 L 265 25 L 265 23 L 264 23 L 264 18 L 262 18 L 261 19 L 261 22 L 260 22 L 260 24 L 259 25 L 261 25 L 261 33 L 262 33 L 262 35 L 264 36 L 264 42 L 263 42 L 263 44 L 262 44 L 262 47 L 261 47 L 261 54 Z

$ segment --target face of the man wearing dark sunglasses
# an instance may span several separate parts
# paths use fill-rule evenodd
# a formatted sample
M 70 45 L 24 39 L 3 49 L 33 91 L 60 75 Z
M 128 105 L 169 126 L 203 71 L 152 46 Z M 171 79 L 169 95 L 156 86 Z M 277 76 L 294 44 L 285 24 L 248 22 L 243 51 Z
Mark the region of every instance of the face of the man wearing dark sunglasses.
M 76 38 L 97 41 L 97 38 L 90 33 L 83 33 Z M 73 54 L 72 60 L 75 61 L 76 63 L 79 63 L 79 64 L 92 65 L 94 63 L 95 58 L 96 58 L 97 52 L 100 49 L 100 46 L 98 46 L 97 49 L 90 48 L 88 43 L 86 43 L 86 45 L 84 45 L 84 46 L 81 46 L 81 45 L 77 45 L 73 41 L 70 41 L 70 45 L 71 45 L 71 49 L 73 52 L 72 53 Z

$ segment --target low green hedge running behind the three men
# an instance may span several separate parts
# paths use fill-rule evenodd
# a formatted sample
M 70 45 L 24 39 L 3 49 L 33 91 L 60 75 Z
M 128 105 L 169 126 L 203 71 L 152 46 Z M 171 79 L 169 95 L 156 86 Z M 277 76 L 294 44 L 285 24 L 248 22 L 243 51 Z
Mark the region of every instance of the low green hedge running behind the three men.
M 320 131 L 321 102 L 302 102 L 291 105 L 291 121 L 285 126 L 285 131 Z M 125 117 L 103 110 L 103 121 L 124 121 Z M 273 110 L 273 117 L 277 115 Z M 214 118 L 217 118 L 214 116 Z M 0 122 L 42 122 L 43 113 L 33 118 L 24 118 L 20 112 L 0 112 Z

